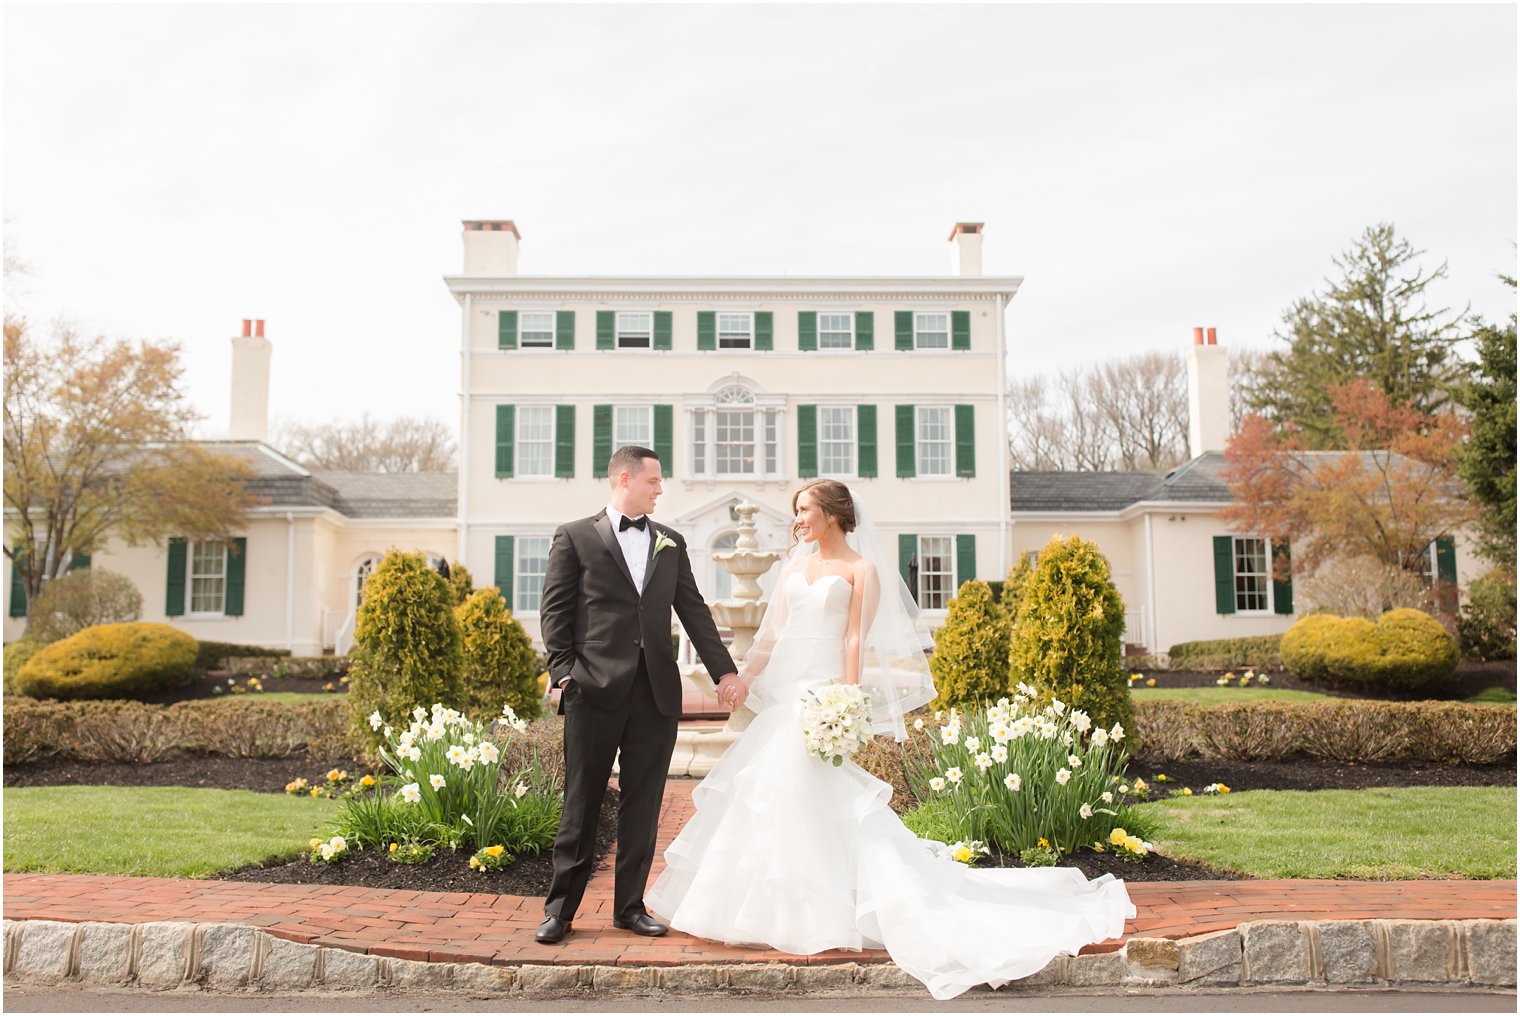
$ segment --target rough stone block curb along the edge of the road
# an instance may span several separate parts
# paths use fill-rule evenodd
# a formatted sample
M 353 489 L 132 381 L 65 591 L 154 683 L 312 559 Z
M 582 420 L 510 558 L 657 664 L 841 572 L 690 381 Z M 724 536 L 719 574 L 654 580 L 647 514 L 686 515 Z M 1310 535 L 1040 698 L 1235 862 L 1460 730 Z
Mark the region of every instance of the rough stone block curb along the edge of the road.
M 141 989 L 473 993 L 923 990 L 892 963 L 687 966 L 426 963 L 302 945 L 246 925 L 5 920 L 14 983 Z M 1192 938 L 1129 938 L 1116 952 L 1056 957 L 1009 987 L 1515 987 L 1511 920 L 1259 920 Z M 1006 989 L 1005 989 L 1006 990 Z

